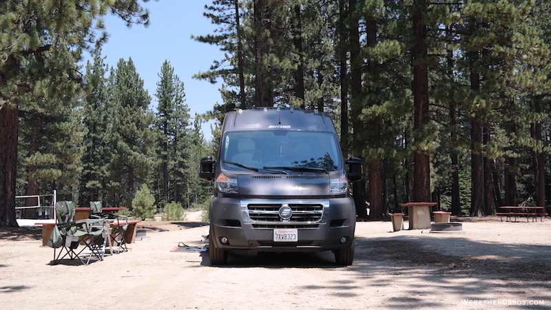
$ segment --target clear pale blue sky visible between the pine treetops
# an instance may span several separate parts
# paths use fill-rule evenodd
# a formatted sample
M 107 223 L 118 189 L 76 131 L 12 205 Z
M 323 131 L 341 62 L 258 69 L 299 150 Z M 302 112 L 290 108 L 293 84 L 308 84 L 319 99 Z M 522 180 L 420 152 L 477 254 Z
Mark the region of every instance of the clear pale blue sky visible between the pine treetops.
M 152 107 L 157 106 L 156 94 L 158 73 L 165 60 L 174 68 L 174 73 L 184 82 L 185 103 L 191 117 L 212 110 L 215 103 L 222 103 L 218 89 L 221 83 L 192 79 L 191 76 L 207 71 L 214 60 L 222 59 L 216 45 L 200 43 L 191 39 L 191 34 L 211 34 L 215 25 L 202 15 L 205 4 L 211 0 L 161 0 L 143 3 L 149 9 L 149 27 L 125 23 L 114 16 L 105 17 L 105 26 L 110 39 L 103 45 L 105 63 L 116 66 L 119 59 L 132 58 L 136 71 L 144 81 L 144 87 L 152 97 Z M 89 55 L 86 55 L 89 57 Z M 209 124 L 203 125 L 205 138 L 211 138 Z

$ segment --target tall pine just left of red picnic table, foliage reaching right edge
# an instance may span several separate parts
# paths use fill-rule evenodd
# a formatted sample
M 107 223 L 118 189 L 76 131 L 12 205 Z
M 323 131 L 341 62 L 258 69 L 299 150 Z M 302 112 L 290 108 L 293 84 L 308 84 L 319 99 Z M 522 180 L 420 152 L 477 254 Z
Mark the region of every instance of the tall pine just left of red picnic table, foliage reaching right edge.
M 530 1 L 472 2 L 461 11 L 468 23 L 459 46 L 469 63 L 464 72 L 469 76 L 470 90 L 461 92 L 460 96 L 464 98 L 461 105 L 471 118 L 471 213 L 475 215 L 490 214 L 493 210 L 488 163 L 503 156 L 503 149 L 507 147 L 492 142 L 490 137 L 495 136 L 492 133 L 499 132 L 499 127 L 521 133 L 522 124 L 530 121 L 503 121 L 517 118 L 515 114 L 520 111 L 514 107 L 523 105 L 522 98 L 526 98 L 529 87 L 543 86 L 534 70 L 541 65 L 538 60 L 542 58 L 540 53 L 545 53 L 545 47 L 537 34 L 537 25 L 529 19 L 533 4 Z M 514 180 L 508 182 L 514 184 Z M 506 188 L 506 197 L 509 191 Z

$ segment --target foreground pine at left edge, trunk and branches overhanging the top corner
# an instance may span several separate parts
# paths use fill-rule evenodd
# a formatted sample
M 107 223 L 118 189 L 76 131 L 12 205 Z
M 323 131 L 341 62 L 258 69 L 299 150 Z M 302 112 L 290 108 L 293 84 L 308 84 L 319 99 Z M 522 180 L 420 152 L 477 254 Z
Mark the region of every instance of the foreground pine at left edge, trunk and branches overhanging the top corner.
M 111 10 L 127 23 L 147 22 L 137 0 L 0 2 L 0 227 L 17 226 L 15 185 L 19 107 L 33 94 L 70 101 L 79 87 L 76 63 L 96 39 L 93 21 Z

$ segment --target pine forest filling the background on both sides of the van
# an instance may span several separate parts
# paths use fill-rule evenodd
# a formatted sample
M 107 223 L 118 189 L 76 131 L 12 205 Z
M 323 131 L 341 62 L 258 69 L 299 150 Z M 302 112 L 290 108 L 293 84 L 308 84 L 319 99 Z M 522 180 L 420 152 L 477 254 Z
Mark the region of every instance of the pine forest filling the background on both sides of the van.
M 331 114 L 345 156 L 364 161 L 353 185 L 362 217 L 366 202 L 373 219 L 410 201 L 474 216 L 548 207 L 550 4 L 216 0 L 205 16 L 218 29 L 195 39 L 225 58 L 196 78 L 221 80 L 224 102 L 202 117 L 219 125 L 227 104 Z M 101 16 L 147 23 L 138 1 L 0 9 L 2 226 L 14 225 L 16 194 L 53 189 L 79 205 L 132 209 L 143 185 L 158 207 L 207 204 L 196 174 L 217 152 L 218 125 L 205 141 L 168 60 L 155 112 L 132 59 L 103 63 Z M 85 50 L 93 61 L 79 68 Z

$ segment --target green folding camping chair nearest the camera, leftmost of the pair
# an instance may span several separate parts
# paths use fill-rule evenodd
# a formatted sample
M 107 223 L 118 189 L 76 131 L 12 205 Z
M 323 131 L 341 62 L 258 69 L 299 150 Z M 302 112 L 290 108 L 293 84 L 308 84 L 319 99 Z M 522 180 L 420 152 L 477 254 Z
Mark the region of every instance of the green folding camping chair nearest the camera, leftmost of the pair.
M 57 224 L 54 226 L 54 231 L 48 240 L 49 247 L 54 248 L 54 260 L 52 265 L 61 262 L 63 258 L 69 256 L 70 259 L 79 258 L 81 263 L 88 265 L 92 255 L 103 260 L 92 247 L 94 238 L 101 236 L 103 229 L 92 228 L 94 224 L 103 220 L 79 220 L 74 222 L 74 203 L 72 201 L 59 201 L 56 203 Z M 78 251 L 80 244 L 85 245 L 83 249 Z M 56 255 L 56 249 L 59 254 Z M 87 261 L 83 258 L 83 251 L 90 249 L 90 256 Z

